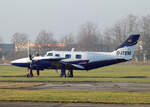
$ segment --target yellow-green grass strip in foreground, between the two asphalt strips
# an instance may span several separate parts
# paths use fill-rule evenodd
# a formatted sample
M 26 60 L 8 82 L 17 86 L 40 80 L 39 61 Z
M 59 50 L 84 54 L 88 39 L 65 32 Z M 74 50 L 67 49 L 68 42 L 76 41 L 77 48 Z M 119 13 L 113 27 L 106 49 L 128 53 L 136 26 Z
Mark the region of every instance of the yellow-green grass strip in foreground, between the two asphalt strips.
M 150 92 L 50 91 L 0 89 L 0 101 L 150 104 Z

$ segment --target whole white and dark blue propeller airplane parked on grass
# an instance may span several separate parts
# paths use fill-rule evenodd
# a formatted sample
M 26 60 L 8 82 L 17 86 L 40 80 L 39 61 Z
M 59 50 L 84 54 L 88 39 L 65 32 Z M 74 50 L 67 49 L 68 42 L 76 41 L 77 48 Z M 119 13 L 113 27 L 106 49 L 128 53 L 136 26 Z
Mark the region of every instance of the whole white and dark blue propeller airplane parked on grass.
M 71 51 L 49 51 L 42 56 L 17 59 L 11 62 L 14 66 L 26 67 L 29 70 L 27 77 L 33 77 L 32 70 L 44 69 L 61 70 L 61 77 L 73 77 L 73 70 L 91 70 L 112 64 L 132 60 L 134 50 L 140 34 L 134 34 L 113 52 L 77 52 Z M 117 42 L 117 41 L 116 41 Z

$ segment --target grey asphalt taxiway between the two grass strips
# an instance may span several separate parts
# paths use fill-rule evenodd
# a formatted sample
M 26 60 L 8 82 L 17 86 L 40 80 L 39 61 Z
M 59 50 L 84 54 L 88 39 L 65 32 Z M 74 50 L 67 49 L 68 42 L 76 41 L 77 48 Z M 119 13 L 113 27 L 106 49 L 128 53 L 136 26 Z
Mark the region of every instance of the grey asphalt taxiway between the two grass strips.
M 148 83 L 114 83 L 114 82 L 48 82 L 38 86 L 25 87 L 27 90 L 94 90 L 150 92 Z

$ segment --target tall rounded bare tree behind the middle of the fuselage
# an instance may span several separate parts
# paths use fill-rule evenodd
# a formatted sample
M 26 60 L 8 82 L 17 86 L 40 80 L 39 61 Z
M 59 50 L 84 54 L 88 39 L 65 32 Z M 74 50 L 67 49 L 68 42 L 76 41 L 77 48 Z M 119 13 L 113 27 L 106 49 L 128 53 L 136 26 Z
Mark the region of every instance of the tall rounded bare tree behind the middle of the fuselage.
M 91 22 L 87 22 L 80 28 L 77 43 L 80 45 L 81 50 L 97 51 L 99 48 L 97 47 L 99 36 L 101 35 L 98 27 Z

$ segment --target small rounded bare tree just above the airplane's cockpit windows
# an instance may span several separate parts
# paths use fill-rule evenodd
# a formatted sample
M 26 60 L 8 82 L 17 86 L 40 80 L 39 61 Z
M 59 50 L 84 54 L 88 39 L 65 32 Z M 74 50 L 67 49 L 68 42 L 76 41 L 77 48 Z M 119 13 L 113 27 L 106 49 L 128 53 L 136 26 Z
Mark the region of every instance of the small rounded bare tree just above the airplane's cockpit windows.
M 36 51 L 41 54 L 50 50 L 50 45 L 55 44 L 56 40 L 53 38 L 53 33 L 43 30 L 36 37 L 35 43 L 38 45 Z

